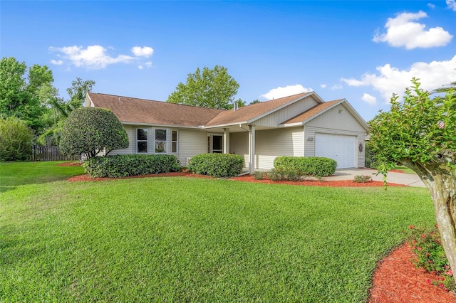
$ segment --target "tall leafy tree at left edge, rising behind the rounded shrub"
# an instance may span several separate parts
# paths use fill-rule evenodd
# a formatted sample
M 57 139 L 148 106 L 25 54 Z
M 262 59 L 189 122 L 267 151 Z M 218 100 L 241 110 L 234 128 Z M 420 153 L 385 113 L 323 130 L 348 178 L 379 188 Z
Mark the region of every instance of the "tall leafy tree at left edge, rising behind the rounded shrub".
M 0 60 L 0 115 L 19 117 L 36 132 L 45 127 L 41 115 L 46 106 L 40 102 L 38 91 L 53 82 L 52 71 L 46 65 L 19 63 L 16 58 Z

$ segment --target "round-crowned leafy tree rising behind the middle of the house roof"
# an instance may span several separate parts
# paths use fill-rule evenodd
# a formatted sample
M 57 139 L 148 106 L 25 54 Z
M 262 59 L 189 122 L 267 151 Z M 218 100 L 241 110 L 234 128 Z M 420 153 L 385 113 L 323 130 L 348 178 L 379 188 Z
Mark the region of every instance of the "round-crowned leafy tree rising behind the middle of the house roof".
M 187 75 L 187 83 L 179 83 L 167 102 L 211 107 L 228 110 L 232 108 L 239 84 L 228 74 L 227 68 L 215 65 L 211 70 L 204 67 Z

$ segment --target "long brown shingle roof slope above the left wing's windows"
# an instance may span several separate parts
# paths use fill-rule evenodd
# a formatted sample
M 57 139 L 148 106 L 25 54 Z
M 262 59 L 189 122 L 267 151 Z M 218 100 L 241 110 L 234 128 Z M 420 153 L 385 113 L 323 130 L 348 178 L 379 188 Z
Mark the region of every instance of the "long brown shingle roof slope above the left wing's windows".
M 95 107 L 112 110 L 121 122 L 199 127 L 225 110 L 88 92 Z

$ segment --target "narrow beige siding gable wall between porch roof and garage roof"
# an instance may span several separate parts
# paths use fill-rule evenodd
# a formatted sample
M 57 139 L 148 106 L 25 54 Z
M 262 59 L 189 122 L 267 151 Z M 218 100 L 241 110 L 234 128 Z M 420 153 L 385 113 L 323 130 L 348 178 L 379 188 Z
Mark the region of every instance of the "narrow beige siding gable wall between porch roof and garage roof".
M 309 110 L 311 107 L 314 107 L 315 105 L 317 105 L 317 102 L 316 100 L 314 100 L 314 98 L 306 97 L 303 100 L 295 102 L 294 104 L 284 107 L 276 112 L 273 112 L 270 115 L 266 115 L 265 117 L 258 119 L 254 123 L 255 125 L 259 126 L 276 127 L 282 122 L 291 119 L 296 115 L 301 114 L 301 112 Z

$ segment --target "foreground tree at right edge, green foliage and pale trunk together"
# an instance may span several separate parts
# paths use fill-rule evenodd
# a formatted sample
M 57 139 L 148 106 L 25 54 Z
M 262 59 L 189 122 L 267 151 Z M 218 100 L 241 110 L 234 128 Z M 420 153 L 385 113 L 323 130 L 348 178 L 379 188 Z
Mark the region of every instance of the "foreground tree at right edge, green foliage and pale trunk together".
M 430 191 L 450 267 L 456 271 L 456 90 L 431 98 L 413 78 L 403 102 L 391 98 L 390 112 L 370 122 L 379 172 L 396 163 L 413 169 Z

